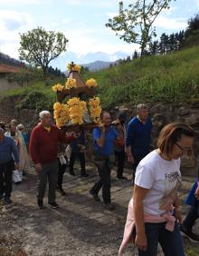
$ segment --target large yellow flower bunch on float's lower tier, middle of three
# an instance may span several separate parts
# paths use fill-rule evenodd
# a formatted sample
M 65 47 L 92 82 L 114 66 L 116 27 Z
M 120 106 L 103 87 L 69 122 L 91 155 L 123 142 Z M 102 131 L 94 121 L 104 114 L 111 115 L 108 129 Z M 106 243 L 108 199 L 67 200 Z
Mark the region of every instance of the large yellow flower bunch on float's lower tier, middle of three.
M 82 124 L 83 114 L 86 111 L 86 102 L 80 100 L 80 98 L 73 97 L 68 102 L 69 115 L 72 124 Z

